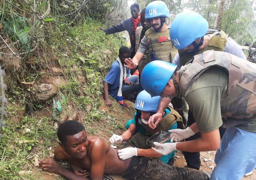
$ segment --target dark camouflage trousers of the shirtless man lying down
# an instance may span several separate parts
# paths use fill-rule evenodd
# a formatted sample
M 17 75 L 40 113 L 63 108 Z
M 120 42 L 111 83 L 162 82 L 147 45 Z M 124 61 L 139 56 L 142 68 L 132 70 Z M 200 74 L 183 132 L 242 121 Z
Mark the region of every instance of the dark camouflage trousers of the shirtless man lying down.
M 133 156 L 123 176 L 129 180 L 209 180 L 196 169 L 173 167 L 156 158 Z

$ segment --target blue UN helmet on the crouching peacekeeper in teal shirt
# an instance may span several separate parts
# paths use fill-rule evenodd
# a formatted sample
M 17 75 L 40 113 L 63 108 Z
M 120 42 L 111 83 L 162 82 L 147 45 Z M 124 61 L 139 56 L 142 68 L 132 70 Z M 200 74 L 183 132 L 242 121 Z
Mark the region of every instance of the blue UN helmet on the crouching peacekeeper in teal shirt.
M 158 109 L 159 102 L 161 100 L 160 96 L 151 97 L 145 90 L 141 91 L 134 104 L 134 107 L 141 111 L 156 112 Z

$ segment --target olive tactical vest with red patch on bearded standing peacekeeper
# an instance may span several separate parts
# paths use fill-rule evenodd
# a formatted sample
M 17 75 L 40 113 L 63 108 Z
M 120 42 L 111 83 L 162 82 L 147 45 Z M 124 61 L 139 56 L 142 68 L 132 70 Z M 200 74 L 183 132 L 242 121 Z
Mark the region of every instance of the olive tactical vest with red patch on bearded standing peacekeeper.
M 150 50 L 149 53 L 153 52 L 154 50 L 158 60 L 172 62 L 172 59 L 177 54 L 177 49 L 172 43 L 169 32 L 170 28 L 168 28 L 165 32 L 157 32 L 153 28 L 150 28 L 146 31 L 145 36 L 147 37 L 147 42 Z M 153 46 L 153 50 L 151 43 Z

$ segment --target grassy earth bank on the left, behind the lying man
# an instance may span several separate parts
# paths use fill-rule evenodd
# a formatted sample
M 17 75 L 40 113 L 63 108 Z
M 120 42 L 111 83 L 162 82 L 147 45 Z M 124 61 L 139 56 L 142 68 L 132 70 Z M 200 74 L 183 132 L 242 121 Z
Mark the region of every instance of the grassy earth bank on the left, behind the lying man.
M 120 4 L 103 0 L 97 4 L 89 1 L 84 6 L 80 0 L 49 2 L 50 6 L 48 1 L 39 0 L 35 6 L 40 15 L 50 9 L 43 17 L 44 24 L 37 18 L 33 21 L 33 13 L 24 2 L 3 0 L 0 4 L 1 36 L 19 53 L 35 48 L 20 55 L 23 59 L 15 74 L 6 68 L 9 104 L 5 107 L 8 115 L 0 139 L 0 179 L 42 179 L 40 171 L 34 168 L 35 157 L 42 160 L 53 156 L 58 145 L 56 129 L 67 119 L 80 121 L 89 134 L 104 139 L 114 130 L 123 129 L 120 114 L 109 115 L 100 109 L 102 80 L 119 47 L 126 42 L 120 35 L 105 35 L 99 30 L 104 27 L 99 19 L 108 20 L 104 16 L 114 14 L 113 7 Z M 33 1 L 29 3 L 33 6 Z M 58 67 L 63 75 L 48 72 L 49 67 Z M 33 97 L 37 94 L 36 85 L 53 77 L 62 82 L 54 96 L 56 102 L 60 101 L 60 112 L 52 99 L 38 102 Z M 110 109 L 119 113 L 126 110 L 118 103 Z

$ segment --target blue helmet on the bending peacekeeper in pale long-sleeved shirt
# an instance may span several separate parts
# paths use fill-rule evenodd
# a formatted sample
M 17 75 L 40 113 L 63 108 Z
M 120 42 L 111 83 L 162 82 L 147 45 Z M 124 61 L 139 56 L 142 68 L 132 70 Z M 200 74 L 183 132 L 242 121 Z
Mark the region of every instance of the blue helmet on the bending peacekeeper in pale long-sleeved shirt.
M 193 43 L 195 51 L 198 51 L 199 44 L 195 43 L 197 38 L 201 38 L 208 31 L 209 24 L 200 14 L 194 11 L 185 11 L 178 14 L 172 21 L 170 37 L 177 49 L 184 49 Z M 202 45 L 202 42 L 200 42 Z M 200 45 L 200 46 L 201 46 Z

